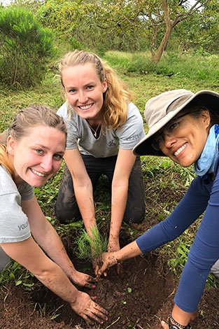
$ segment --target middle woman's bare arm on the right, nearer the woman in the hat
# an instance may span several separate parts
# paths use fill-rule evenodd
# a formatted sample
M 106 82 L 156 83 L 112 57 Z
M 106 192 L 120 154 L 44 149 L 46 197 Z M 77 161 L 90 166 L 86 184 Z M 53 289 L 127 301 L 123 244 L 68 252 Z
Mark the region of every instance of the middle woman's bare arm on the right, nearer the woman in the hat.
M 129 176 L 135 160 L 136 156 L 132 153 L 132 150 L 122 150 L 120 148 L 112 182 L 111 228 L 108 251 L 117 251 L 120 248 L 120 228 L 127 204 Z

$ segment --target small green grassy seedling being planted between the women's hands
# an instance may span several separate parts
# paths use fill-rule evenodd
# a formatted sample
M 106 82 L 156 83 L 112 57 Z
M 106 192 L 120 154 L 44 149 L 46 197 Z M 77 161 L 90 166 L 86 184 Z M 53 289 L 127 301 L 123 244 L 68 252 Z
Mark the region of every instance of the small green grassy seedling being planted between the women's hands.
M 91 229 L 92 239 L 87 232 L 83 230 L 76 240 L 78 248 L 76 255 L 81 259 L 99 259 L 102 253 L 107 250 L 107 240 L 104 239 L 98 228 L 95 226 Z

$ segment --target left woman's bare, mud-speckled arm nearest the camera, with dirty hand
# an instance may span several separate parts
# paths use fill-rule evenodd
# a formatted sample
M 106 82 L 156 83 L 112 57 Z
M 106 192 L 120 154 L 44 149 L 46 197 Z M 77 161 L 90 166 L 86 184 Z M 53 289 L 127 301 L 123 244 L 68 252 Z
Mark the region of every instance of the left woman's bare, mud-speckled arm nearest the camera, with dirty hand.
M 99 323 L 106 320 L 107 311 L 93 302 L 89 295 L 78 291 L 62 269 L 43 253 L 32 237 L 21 242 L 1 244 L 1 248 L 10 258 L 29 269 L 50 290 L 69 302 L 79 316 L 87 321 L 92 319 Z

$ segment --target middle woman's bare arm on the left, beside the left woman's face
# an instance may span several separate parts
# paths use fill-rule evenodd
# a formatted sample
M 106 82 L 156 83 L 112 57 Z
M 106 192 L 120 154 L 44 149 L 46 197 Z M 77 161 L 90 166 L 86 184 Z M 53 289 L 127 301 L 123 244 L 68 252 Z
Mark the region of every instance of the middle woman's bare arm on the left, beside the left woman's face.
M 64 160 L 71 172 L 73 188 L 85 229 L 88 235 L 92 236 L 90 229 L 96 225 L 92 182 L 87 174 L 83 158 L 78 148 L 66 150 Z

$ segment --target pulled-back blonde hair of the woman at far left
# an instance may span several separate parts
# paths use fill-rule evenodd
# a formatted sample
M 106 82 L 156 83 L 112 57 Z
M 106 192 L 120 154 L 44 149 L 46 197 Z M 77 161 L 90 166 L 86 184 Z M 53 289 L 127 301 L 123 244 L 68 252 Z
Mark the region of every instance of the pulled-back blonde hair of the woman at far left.
M 16 141 L 19 141 L 22 137 L 28 136 L 31 127 L 36 125 L 53 127 L 66 134 L 64 120 L 48 106 L 32 105 L 20 110 L 8 130 L 0 135 L 0 165 L 3 165 L 12 176 L 14 175 L 13 165 L 10 163 L 7 154 L 8 136 L 11 135 Z

